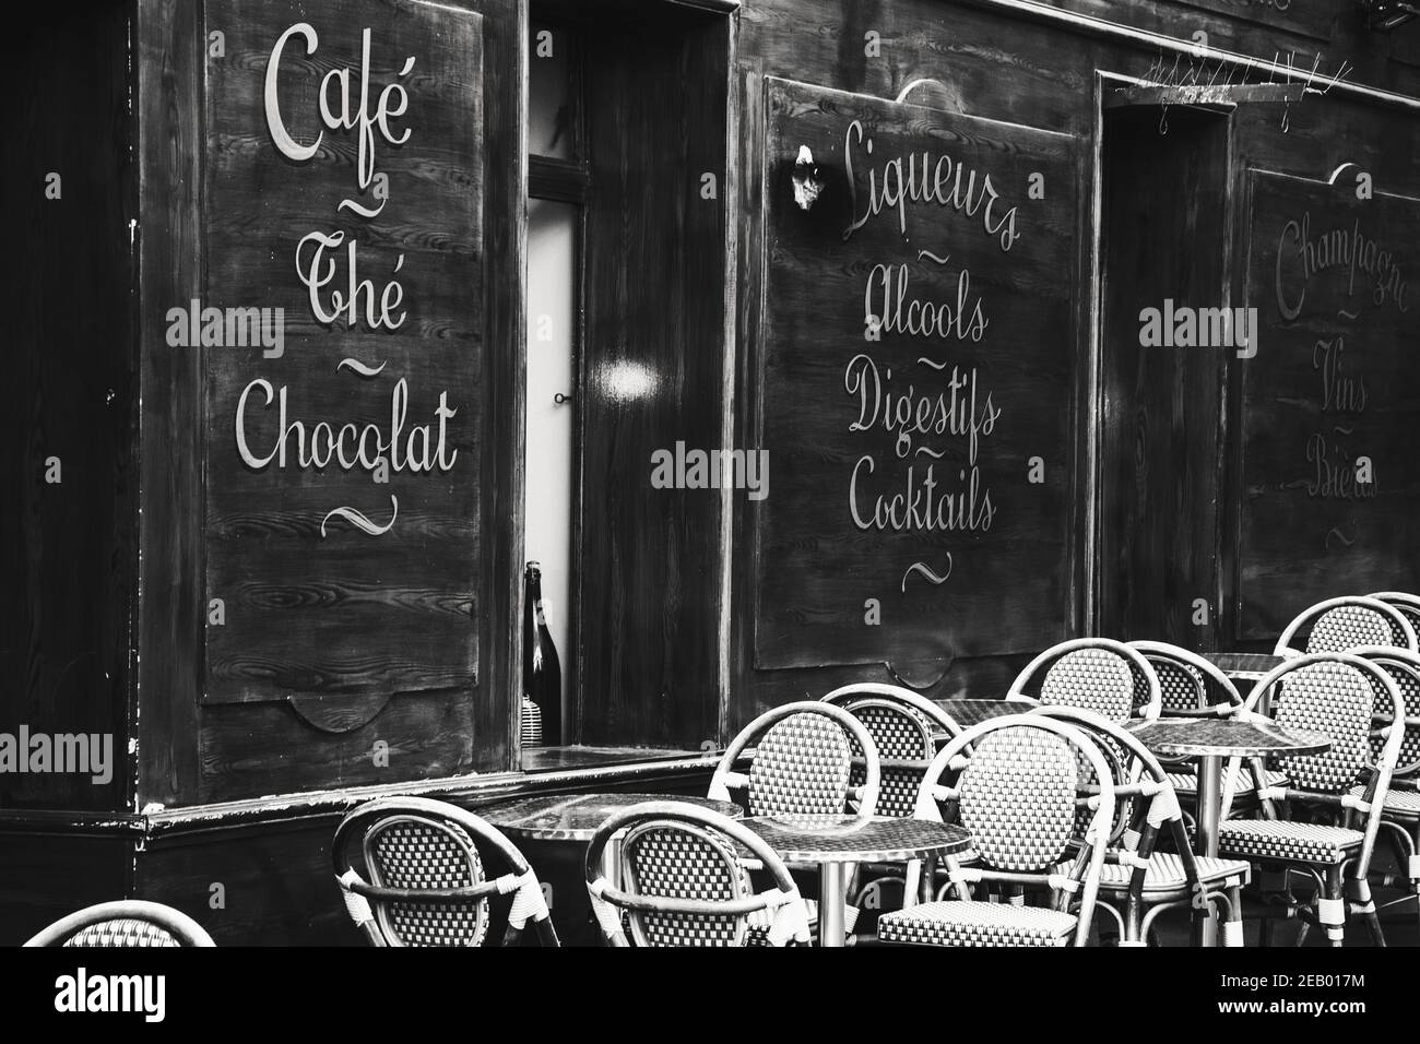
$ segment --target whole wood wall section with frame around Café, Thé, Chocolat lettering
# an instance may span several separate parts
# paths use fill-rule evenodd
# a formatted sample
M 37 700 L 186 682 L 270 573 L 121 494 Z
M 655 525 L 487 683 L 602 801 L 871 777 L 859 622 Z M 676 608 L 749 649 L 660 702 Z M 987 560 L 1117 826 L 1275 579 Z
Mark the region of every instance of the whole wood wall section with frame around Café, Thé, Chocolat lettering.
M 338 6 L 331 10 L 338 10 Z M 271 239 L 264 270 L 273 283 L 268 288 L 273 297 L 266 301 L 237 300 L 236 304 L 284 307 L 284 301 L 275 297 L 288 295 L 291 286 L 304 291 L 297 281 L 294 260 L 287 254 L 305 232 L 317 227 L 329 230 L 348 217 L 335 212 L 339 199 L 355 195 L 348 149 L 341 152 L 332 148 L 312 162 L 321 169 L 314 176 L 331 190 L 328 219 L 318 213 L 314 202 L 311 209 L 301 209 L 302 199 L 315 199 L 298 186 L 300 175 L 311 173 L 307 170 L 288 170 L 274 180 L 270 170 L 261 175 L 267 179 L 261 182 L 264 189 L 270 189 L 261 193 L 263 200 L 270 202 L 270 212 L 266 202 L 246 210 L 223 207 L 222 192 L 217 192 L 217 199 L 210 200 L 204 210 L 210 219 L 206 233 L 212 240 L 226 237 L 226 241 L 234 243 L 236 256 L 247 249 L 246 257 L 253 266 L 237 266 L 229 273 L 229 281 L 220 278 L 222 266 L 230 267 L 230 259 L 217 257 L 217 251 L 204 254 L 199 234 L 199 193 L 195 190 L 203 185 L 197 175 L 199 158 L 216 142 L 217 148 L 209 153 L 213 168 L 231 170 L 243 163 L 258 163 L 251 153 L 251 142 L 237 142 L 239 135 L 234 134 L 230 141 L 222 138 L 220 128 L 209 126 L 203 116 L 203 94 L 197 87 L 202 70 L 195 61 L 204 55 L 204 48 L 195 43 L 203 36 L 203 27 L 187 9 L 175 14 L 158 0 L 145 0 L 136 30 L 143 47 L 143 60 L 138 64 L 139 105 L 145 112 L 141 121 L 143 224 L 163 230 L 163 234 L 155 232 L 143 239 L 143 379 L 145 386 L 162 388 L 163 392 L 143 399 L 145 459 L 152 469 L 143 491 L 143 567 L 148 578 L 142 614 L 146 680 L 139 747 L 143 803 L 193 804 L 339 785 L 346 776 L 355 780 L 420 778 L 471 768 L 506 768 L 511 763 L 511 700 L 507 690 L 515 683 L 508 669 L 515 656 L 507 652 L 507 646 L 515 641 L 510 638 L 514 635 L 510 621 L 515 619 L 517 581 L 507 561 L 511 557 L 510 543 L 520 530 L 508 516 L 507 504 L 521 503 L 521 494 L 510 494 L 518 480 L 515 457 L 520 445 L 511 432 L 521 430 L 521 420 L 513 416 L 517 396 L 506 395 L 504 388 L 520 375 L 514 364 L 520 359 L 517 345 L 523 342 L 523 36 L 518 7 L 513 0 L 488 0 L 480 4 L 480 10 L 488 17 L 481 20 L 476 36 L 493 48 L 488 60 L 479 65 L 479 48 L 469 44 L 474 37 L 467 31 L 462 36 L 446 34 L 435 51 L 444 64 L 471 61 L 471 82 L 459 75 L 432 80 L 423 68 L 429 54 L 422 51 L 422 57 L 416 55 L 413 80 L 419 82 L 412 88 L 409 111 L 416 134 L 402 149 L 376 152 L 376 169 L 390 172 L 390 202 L 382 216 L 389 220 L 371 222 L 378 233 L 361 243 L 361 256 L 372 266 L 362 276 L 378 280 L 386 276 L 398 253 L 395 244 L 410 244 L 402 270 L 406 277 L 408 330 L 393 337 L 385 331 L 364 331 L 342 339 L 342 347 L 359 358 L 373 361 L 382 358 L 375 352 L 388 352 L 386 374 L 402 366 L 417 371 L 409 376 L 410 423 L 420 409 L 426 413 L 419 418 L 420 422 L 432 418 L 440 388 L 450 388 L 450 406 L 460 408 L 450 422 L 452 436 L 460 439 L 453 479 L 443 479 L 440 486 L 436 479 L 439 472 L 433 476 L 392 472 L 390 486 L 409 486 L 400 496 L 400 526 L 386 534 L 385 547 L 392 548 L 392 557 L 398 560 L 398 568 L 390 568 L 389 557 L 371 554 L 371 545 L 378 538 L 354 534 L 346 527 L 339 535 L 332 533 L 334 541 L 321 541 L 320 520 L 332 504 L 317 506 L 310 487 L 301 483 L 283 487 L 277 482 L 273 490 L 270 482 L 267 489 L 254 482 L 256 476 L 244 470 L 231 446 L 231 418 L 220 425 L 214 420 L 217 410 L 209 410 L 203 419 L 204 376 L 199 368 L 203 354 L 168 348 L 165 342 L 166 310 L 173 304 L 186 304 L 195 297 L 220 298 L 227 287 L 240 290 L 241 278 L 256 287 L 250 290 L 253 297 L 266 293 L 260 290 L 260 274 L 256 273 L 258 259 L 250 254 L 251 241 L 260 236 Z M 322 17 L 328 20 L 329 13 L 312 11 L 310 17 L 321 24 L 322 33 L 317 57 L 329 60 L 339 54 L 342 62 L 358 65 L 362 26 L 356 23 L 393 23 L 400 34 L 406 34 L 402 38 L 408 38 L 409 33 L 422 31 L 417 30 L 420 20 L 410 17 L 412 11 L 439 11 L 440 20 L 453 20 L 464 27 L 479 21 L 471 9 L 457 14 L 449 7 L 400 0 L 364 4 L 364 20 L 344 18 L 338 30 L 327 30 Z M 271 13 L 267 14 L 270 17 Z M 291 17 L 291 21 L 297 20 L 297 16 Z M 253 36 L 243 36 L 243 18 L 223 21 L 229 58 L 234 61 L 231 74 L 260 78 L 256 68 L 260 47 L 253 43 Z M 354 34 L 354 55 L 348 45 L 337 47 L 337 33 Z M 275 34 L 268 34 L 267 47 L 274 43 Z M 456 38 L 463 48 L 459 54 L 450 51 Z M 372 47 L 376 82 L 382 75 L 381 40 L 376 28 Z M 327 68 L 321 67 L 322 71 Z M 315 67 L 310 70 L 314 75 Z M 417 122 L 420 88 L 432 91 L 423 112 L 436 109 L 443 121 L 439 141 L 430 142 L 426 152 L 416 148 L 419 131 L 436 126 L 439 121 Z M 473 98 L 474 104 L 463 107 L 456 115 L 450 95 Z M 308 131 L 307 124 L 312 119 L 310 104 L 314 102 L 310 97 L 305 102 L 308 105 L 302 111 L 287 105 L 287 119 L 297 136 Z M 456 132 L 457 121 L 463 122 Z M 247 111 L 247 129 L 253 126 L 264 132 L 260 105 Z M 400 121 L 395 121 L 396 131 L 399 126 Z M 481 126 L 487 128 L 486 135 L 479 129 Z M 207 131 L 216 135 L 210 141 Z M 479 138 L 477 149 L 471 146 L 474 138 Z M 331 141 L 328 132 L 325 143 Z M 231 145 L 226 152 L 222 151 L 223 142 Z M 481 151 L 483 145 L 487 155 Z M 460 148 L 464 159 L 456 168 Z M 324 159 L 331 162 L 321 162 Z M 415 200 L 419 206 L 416 213 L 400 216 L 405 183 L 413 186 L 410 192 L 419 196 Z M 430 193 L 435 192 L 443 192 L 452 200 L 442 207 L 446 213 L 433 205 Z M 486 206 L 471 202 L 470 193 L 483 199 Z M 287 207 L 283 224 L 273 227 L 268 214 L 281 206 Z M 437 217 L 433 216 L 436 213 Z M 463 217 L 459 217 L 460 213 Z M 307 220 L 310 227 L 298 223 Z M 277 240 L 283 236 L 290 241 L 277 250 Z M 376 261 L 376 257 L 381 260 Z M 483 257 L 493 257 L 496 263 L 484 267 Z M 383 266 L 383 271 L 375 266 Z M 419 284 L 435 287 L 432 297 L 422 297 L 415 283 L 412 273 L 419 266 L 433 266 L 433 277 L 419 278 Z M 243 271 L 247 274 L 241 276 Z M 426 267 L 426 276 L 427 271 Z M 456 291 L 460 278 L 463 283 Z M 209 284 L 217 290 L 209 293 Z M 237 294 L 239 298 L 246 295 L 247 291 Z M 230 298 L 204 301 L 219 307 L 229 303 Z M 214 382 L 212 386 L 219 386 L 223 374 L 229 375 L 230 386 L 240 376 L 236 372 L 239 362 L 244 361 L 251 371 L 247 379 L 260 374 L 273 385 L 290 385 L 288 419 L 314 425 L 342 413 L 359 420 L 379 420 L 383 415 L 388 428 L 388 386 L 383 388 L 381 409 L 365 395 L 368 388 L 359 386 L 364 382 L 348 372 L 335 372 L 335 362 L 344 352 L 331 355 L 324 348 L 311 347 L 321 338 L 332 344 L 331 334 L 298 321 L 297 308 L 288 308 L 287 315 L 293 322 L 287 331 L 287 352 L 280 359 L 264 359 L 260 351 L 251 349 L 206 349 L 213 362 L 209 375 Z M 305 349 L 300 347 L 302 344 Z M 302 385 L 298 376 L 310 376 L 311 381 Z M 460 405 L 463 393 L 469 401 Z M 470 428 L 459 435 L 464 420 Z M 476 435 L 483 423 L 488 425 L 488 433 Z M 270 426 L 274 428 L 274 418 Z M 207 499 L 204 513 L 202 480 L 212 472 L 204 469 L 203 456 L 209 447 L 213 453 L 230 447 L 230 457 L 222 453 L 222 459 L 234 460 L 236 469 L 229 467 L 226 477 L 219 479 L 216 496 Z M 464 483 L 464 472 L 486 476 L 487 482 Z M 346 487 L 352 482 L 332 466 L 311 486 L 339 486 L 342 480 Z M 390 486 L 373 484 L 364 474 L 354 482 L 356 493 L 376 490 L 386 496 L 388 503 Z M 417 484 L 437 489 L 429 489 L 425 496 Z M 302 496 L 307 501 L 301 501 Z M 378 513 L 371 510 L 369 514 Z M 487 534 L 487 538 L 480 538 L 480 534 Z M 203 656 L 207 595 L 202 582 L 202 548 L 209 540 L 213 547 L 233 553 L 226 558 L 222 554 L 206 558 L 206 568 L 213 571 L 213 577 L 222 571 L 219 582 L 229 587 L 227 605 L 234 609 L 234 614 L 229 609 L 229 625 L 244 615 L 250 628 L 240 643 L 219 646 L 210 662 Z M 339 547 L 334 547 L 337 543 Z M 324 564 L 328 568 L 318 568 L 314 555 L 300 550 L 314 544 L 325 545 L 328 557 Z M 486 614 L 476 614 L 480 604 L 488 607 Z M 314 625 L 314 619 L 338 615 L 358 631 L 358 641 L 352 642 L 349 632 L 332 635 L 334 628 L 322 631 Z M 307 625 L 287 625 L 283 631 L 274 625 L 283 616 L 285 621 L 304 616 Z M 223 628 L 213 628 L 213 632 L 219 632 L 219 639 L 226 638 L 220 634 Z M 383 653 L 376 651 L 379 642 L 385 642 Z M 293 649 L 305 659 L 290 655 Z M 297 665 L 294 673 L 293 663 Z M 209 686 L 209 666 L 217 678 L 216 686 Z M 487 685 L 480 685 L 480 680 Z M 304 693 L 302 714 L 281 706 L 260 709 L 263 700 L 280 695 L 263 686 L 277 687 L 280 682 L 287 683 L 283 692 Z M 308 687 L 300 689 L 301 685 Z M 400 696 L 396 705 L 408 699 L 412 700 L 409 706 L 385 707 L 382 697 L 409 692 L 427 695 Z M 219 700 L 224 696 L 244 702 L 250 714 L 241 706 L 229 710 L 220 702 L 203 707 L 200 699 L 204 693 L 216 693 Z M 361 714 L 368 716 L 378 707 L 385 709 L 364 724 L 346 720 L 351 713 L 328 703 L 342 699 L 341 693 L 349 693 L 352 713 L 362 709 Z M 369 693 L 373 702 L 359 693 Z M 248 703 L 253 697 L 256 702 Z M 310 722 L 321 727 L 315 729 Z M 332 736 L 332 726 L 345 732 Z M 264 754 L 250 746 L 257 736 L 264 744 Z M 392 750 L 389 768 L 382 774 L 373 773 L 369 757 L 378 740 Z M 365 753 L 364 767 L 349 753 L 354 750 Z

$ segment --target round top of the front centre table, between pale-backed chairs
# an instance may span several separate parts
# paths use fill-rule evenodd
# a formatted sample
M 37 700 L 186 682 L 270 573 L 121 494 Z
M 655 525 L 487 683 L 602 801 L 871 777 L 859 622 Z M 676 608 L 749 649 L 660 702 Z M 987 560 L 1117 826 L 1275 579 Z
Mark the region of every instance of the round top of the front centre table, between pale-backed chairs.
M 754 817 L 741 822 L 785 862 L 906 862 L 933 852 L 951 855 L 971 844 L 963 827 L 883 815 Z

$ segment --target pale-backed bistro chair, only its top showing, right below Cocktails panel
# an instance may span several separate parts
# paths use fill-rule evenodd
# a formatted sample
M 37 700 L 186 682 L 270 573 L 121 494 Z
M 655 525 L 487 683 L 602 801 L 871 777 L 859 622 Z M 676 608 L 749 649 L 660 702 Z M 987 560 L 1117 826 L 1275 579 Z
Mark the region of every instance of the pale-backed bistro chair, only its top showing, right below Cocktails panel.
M 1112 722 L 1154 719 L 1163 706 L 1149 660 L 1112 638 L 1075 638 L 1051 646 L 1025 665 L 1005 697 L 1083 707 Z

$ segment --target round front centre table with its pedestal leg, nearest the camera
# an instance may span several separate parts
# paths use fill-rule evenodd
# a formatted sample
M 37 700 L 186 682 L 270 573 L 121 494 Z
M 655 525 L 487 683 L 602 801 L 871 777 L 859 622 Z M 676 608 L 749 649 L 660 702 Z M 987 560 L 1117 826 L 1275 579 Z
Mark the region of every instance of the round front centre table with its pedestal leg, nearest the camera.
M 818 864 L 818 945 L 843 946 L 848 868 L 954 855 L 971 844 L 963 827 L 883 815 L 753 817 L 743 824 L 787 864 Z

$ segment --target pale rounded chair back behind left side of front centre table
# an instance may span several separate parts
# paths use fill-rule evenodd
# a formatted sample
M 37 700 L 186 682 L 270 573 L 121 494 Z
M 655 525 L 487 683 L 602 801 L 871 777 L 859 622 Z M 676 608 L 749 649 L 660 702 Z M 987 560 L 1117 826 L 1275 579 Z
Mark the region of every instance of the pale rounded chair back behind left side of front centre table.
M 748 773 L 736 771 L 751 746 Z M 863 761 L 861 787 L 849 780 L 855 749 Z M 721 756 L 709 797 L 731 801 L 731 788 L 743 790 L 750 815 L 873 815 L 880 785 L 878 744 L 862 722 L 832 703 L 805 700 L 747 724 Z

